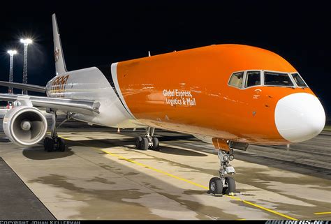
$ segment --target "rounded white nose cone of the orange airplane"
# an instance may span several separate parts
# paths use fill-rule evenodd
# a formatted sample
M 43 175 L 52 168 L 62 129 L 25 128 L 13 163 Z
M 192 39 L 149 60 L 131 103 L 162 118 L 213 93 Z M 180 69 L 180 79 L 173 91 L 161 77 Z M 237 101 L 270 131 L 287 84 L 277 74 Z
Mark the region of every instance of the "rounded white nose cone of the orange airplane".
M 284 139 L 303 142 L 321 133 L 325 126 L 325 112 L 316 96 L 290 94 L 278 101 L 274 121 Z

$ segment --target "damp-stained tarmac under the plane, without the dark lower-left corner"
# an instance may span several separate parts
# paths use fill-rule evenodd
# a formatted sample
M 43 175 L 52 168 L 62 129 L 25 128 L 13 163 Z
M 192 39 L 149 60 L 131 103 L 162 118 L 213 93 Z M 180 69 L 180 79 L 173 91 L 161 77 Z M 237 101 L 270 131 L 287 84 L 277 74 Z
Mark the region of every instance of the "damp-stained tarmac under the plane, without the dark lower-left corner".
M 57 219 L 331 218 L 330 133 L 235 151 L 240 194 L 223 197 L 207 194 L 219 169 L 212 145 L 156 130 L 161 151 L 142 151 L 134 146 L 142 133 L 71 122 L 59 130 L 65 152 L 22 149 L 2 138 L 0 157 Z

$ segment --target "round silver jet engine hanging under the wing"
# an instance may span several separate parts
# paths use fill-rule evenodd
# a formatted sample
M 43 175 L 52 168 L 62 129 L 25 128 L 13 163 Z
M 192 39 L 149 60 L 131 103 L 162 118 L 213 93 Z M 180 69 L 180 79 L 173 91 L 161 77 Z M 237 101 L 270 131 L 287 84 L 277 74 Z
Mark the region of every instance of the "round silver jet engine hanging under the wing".
M 32 146 L 45 137 L 47 120 L 36 107 L 14 107 L 3 117 L 3 131 L 11 142 Z

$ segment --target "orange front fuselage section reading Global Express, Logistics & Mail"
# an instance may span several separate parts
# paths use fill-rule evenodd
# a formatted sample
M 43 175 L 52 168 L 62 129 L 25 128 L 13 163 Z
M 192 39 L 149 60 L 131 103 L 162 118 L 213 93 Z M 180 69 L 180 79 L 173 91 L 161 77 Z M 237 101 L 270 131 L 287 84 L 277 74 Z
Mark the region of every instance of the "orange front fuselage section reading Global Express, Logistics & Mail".
M 245 45 L 212 45 L 119 62 L 126 105 L 144 124 L 256 144 L 286 144 L 274 121 L 279 99 L 309 88 L 228 85 L 241 70 L 293 73 L 273 52 Z

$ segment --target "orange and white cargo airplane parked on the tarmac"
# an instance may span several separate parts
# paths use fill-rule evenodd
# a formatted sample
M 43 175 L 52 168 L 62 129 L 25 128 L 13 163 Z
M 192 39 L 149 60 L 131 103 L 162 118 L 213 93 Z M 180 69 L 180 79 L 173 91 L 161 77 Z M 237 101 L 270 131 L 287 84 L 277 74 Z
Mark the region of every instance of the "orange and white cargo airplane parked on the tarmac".
M 209 192 L 235 192 L 233 149 L 249 144 L 291 144 L 318 135 L 325 112 L 300 74 L 279 55 L 247 45 L 210 45 L 81 70 L 66 69 L 59 29 L 52 15 L 56 75 L 45 87 L 0 85 L 47 96 L 0 94 L 15 107 L 3 119 L 11 142 L 64 151 L 57 111 L 67 119 L 117 128 L 146 128 L 136 147 L 158 150 L 154 129 L 188 133 L 214 144 L 219 177 Z M 37 107 L 52 114 L 52 132 Z

